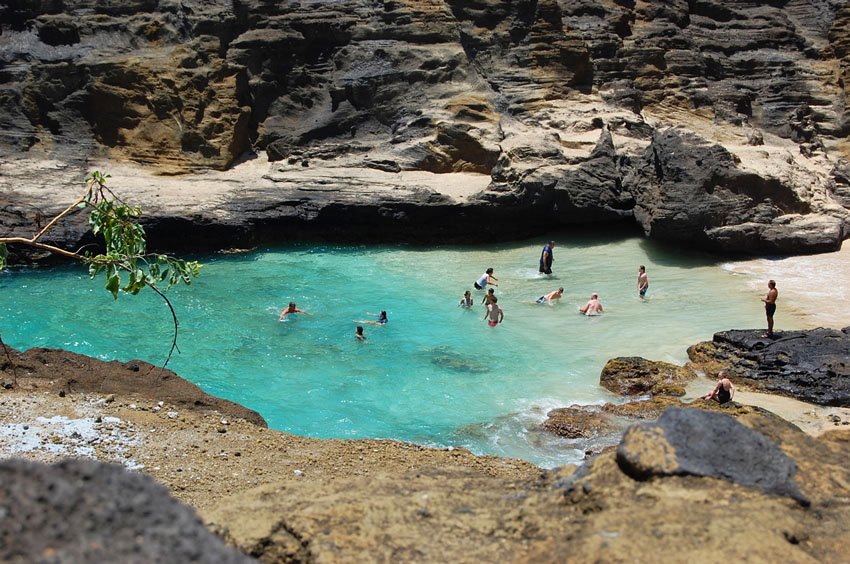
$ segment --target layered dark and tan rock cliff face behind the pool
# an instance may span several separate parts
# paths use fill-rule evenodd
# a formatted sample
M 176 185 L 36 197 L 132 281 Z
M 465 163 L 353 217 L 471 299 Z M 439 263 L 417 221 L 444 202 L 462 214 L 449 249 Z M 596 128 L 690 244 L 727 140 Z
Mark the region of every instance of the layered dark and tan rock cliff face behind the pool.
M 19 163 L 0 193 L 38 182 L 21 163 L 74 167 L 58 184 L 106 160 L 181 173 L 198 200 L 198 171 L 253 151 L 267 169 L 191 220 L 238 227 L 232 243 L 363 217 L 490 236 L 508 214 L 513 235 L 634 218 L 733 252 L 850 234 L 843 1 L 23 0 L 0 16 L 0 153 Z M 404 172 L 441 178 L 387 196 L 411 191 Z M 445 190 L 458 174 L 481 189 Z M 2 198 L 5 230 L 27 197 Z M 246 201 L 261 211 L 241 219 Z

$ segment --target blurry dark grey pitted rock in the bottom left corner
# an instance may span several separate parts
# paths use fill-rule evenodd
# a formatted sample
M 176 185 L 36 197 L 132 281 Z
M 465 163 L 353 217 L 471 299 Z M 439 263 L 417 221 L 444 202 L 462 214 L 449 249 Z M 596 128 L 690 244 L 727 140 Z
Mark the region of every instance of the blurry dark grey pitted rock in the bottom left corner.
M 66 460 L 0 462 L 3 562 L 254 562 L 153 478 Z

